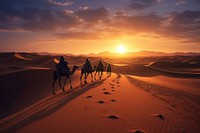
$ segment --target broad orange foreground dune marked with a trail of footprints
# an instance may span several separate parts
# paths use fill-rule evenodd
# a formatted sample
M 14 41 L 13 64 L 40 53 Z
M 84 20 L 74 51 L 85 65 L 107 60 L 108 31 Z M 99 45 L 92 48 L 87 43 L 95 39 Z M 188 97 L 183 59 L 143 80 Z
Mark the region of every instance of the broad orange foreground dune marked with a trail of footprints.
M 105 92 L 110 94 L 105 95 Z M 113 74 L 110 78 L 76 86 L 70 92 L 47 95 L 41 101 L 3 119 L 0 129 L 1 132 L 19 133 L 121 133 L 139 130 L 197 133 L 199 125 L 157 97 L 140 90 L 125 76 Z

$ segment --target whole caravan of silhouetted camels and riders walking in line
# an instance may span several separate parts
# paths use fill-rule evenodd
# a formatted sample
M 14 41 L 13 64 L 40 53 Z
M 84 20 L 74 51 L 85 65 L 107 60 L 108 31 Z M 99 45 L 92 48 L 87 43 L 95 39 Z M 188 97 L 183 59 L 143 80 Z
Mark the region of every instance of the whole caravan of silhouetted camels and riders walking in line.
M 70 89 L 73 88 L 70 76 L 73 75 L 77 69 L 78 69 L 78 66 L 74 65 L 72 70 L 70 70 L 68 63 L 64 60 L 64 57 L 63 56 L 60 57 L 60 61 L 55 66 L 55 70 L 53 73 L 53 83 L 52 83 L 53 95 L 56 94 L 55 90 L 54 90 L 54 85 L 57 80 L 59 81 L 59 86 L 61 87 L 63 92 L 65 92 L 64 87 L 65 87 L 67 79 L 69 80 Z M 110 77 L 111 76 L 111 65 L 108 64 L 108 67 L 104 67 L 103 63 L 101 61 L 99 61 L 98 65 L 94 66 L 94 68 L 93 68 L 89 59 L 87 58 L 85 61 L 85 64 L 82 66 L 82 69 L 81 69 L 80 84 L 83 85 L 83 83 L 82 83 L 83 77 L 84 77 L 84 84 L 88 83 L 87 82 L 88 75 L 91 75 L 91 82 L 96 80 L 96 75 L 98 76 L 99 80 L 101 80 L 104 71 L 107 72 L 107 77 Z M 93 76 L 93 73 L 94 73 L 94 76 Z M 65 77 L 63 86 L 61 85 L 61 77 L 62 76 Z

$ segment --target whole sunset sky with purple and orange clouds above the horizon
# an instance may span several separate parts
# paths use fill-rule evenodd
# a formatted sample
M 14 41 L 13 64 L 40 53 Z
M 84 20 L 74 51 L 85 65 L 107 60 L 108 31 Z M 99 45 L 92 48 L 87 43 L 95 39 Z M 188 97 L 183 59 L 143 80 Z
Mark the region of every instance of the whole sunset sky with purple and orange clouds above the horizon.
M 0 52 L 200 52 L 200 0 L 0 0 Z

